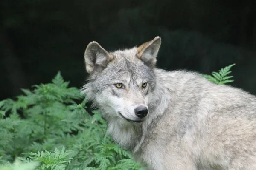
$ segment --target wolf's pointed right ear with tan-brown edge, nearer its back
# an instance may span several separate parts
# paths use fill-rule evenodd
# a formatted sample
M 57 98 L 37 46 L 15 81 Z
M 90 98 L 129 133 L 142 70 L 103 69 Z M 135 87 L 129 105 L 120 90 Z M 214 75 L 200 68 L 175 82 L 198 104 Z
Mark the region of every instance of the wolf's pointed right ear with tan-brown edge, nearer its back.
M 153 40 L 145 42 L 137 48 L 137 57 L 146 65 L 154 67 L 157 62 L 157 53 L 161 45 L 161 38 L 155 37 Z

